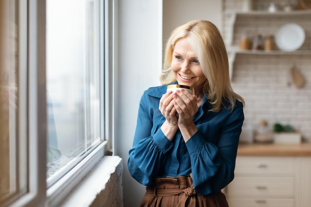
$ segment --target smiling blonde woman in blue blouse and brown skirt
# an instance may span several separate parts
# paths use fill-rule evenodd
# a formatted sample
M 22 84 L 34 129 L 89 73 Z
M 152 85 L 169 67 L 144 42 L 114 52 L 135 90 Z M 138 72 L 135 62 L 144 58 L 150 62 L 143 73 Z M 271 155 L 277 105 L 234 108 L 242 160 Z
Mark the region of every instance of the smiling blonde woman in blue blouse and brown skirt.
M 131 175 L 147 186 L 141 207 L 227 207 L 221 189 L 234 177 L 244 100 L 231 87 L 217 27 L 205 20 L 177 27 L 160 80 L 142 96 L 129 152 Z M 177 83 L 192 95 L 166 92 Z

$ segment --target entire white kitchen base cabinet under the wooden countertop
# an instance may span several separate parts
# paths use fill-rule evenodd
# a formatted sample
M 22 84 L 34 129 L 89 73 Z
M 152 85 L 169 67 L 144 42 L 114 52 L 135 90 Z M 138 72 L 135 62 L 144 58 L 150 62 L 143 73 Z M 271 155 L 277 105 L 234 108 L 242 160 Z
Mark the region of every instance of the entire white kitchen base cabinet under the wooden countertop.
M 310 207 L 311 157 L 237 156 L 230 207 Z

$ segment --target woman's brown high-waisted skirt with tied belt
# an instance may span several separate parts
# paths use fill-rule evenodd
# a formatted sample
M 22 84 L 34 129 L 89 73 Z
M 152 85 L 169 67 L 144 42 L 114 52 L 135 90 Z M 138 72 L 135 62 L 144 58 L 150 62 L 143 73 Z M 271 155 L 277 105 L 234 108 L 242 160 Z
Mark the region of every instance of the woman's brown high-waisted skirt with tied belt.
M 198 194 L 191 177 L 156 178 L 153 187 L 146 188 L 140 207 L 228 207 L 222 192 Z

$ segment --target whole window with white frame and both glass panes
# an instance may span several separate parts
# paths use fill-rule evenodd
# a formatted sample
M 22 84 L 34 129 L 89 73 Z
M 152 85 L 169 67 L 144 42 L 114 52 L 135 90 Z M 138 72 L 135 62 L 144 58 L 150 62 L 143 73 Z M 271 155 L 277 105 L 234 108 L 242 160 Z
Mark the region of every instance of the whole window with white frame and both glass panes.
M 58 206 L 110 147 L 111 2 L 0 1 L 0 206 Z

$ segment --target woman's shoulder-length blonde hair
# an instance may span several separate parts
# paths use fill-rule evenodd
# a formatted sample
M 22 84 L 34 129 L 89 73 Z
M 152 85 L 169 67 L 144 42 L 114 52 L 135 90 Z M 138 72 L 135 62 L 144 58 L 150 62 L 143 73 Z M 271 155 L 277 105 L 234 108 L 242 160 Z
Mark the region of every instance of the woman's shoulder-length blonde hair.
M 207 79 L 203 86 L 203 93 L 212 104 L 211 111 L 220 111 L 224 101 L 230 102 L 231 109 L 236 100 L 245 105 L 244 99 L 233 92 L 231 86 L 228 54 L 223 38 L 217 27 L 207 20 L 193 20 L 173 30 L 166 42 L 164 64 L 160 74 L 161 83 L 169 84 L 176 80 L 170 64 L 174 46 L 183 38 L 189 41 L 196 52 Z

